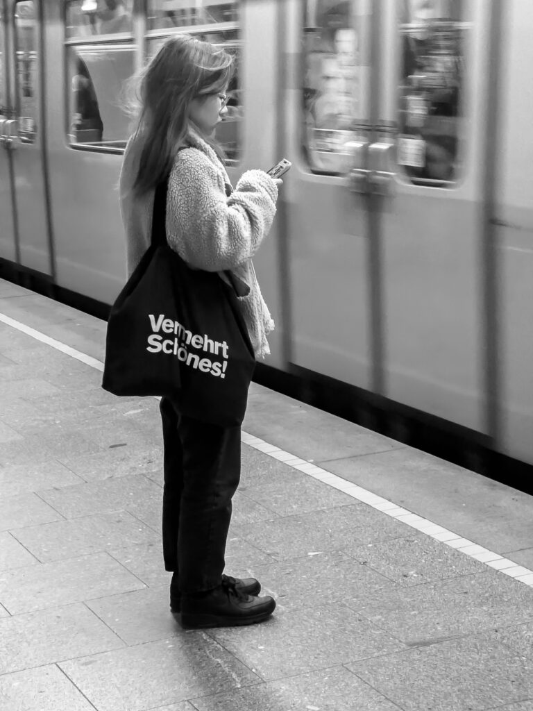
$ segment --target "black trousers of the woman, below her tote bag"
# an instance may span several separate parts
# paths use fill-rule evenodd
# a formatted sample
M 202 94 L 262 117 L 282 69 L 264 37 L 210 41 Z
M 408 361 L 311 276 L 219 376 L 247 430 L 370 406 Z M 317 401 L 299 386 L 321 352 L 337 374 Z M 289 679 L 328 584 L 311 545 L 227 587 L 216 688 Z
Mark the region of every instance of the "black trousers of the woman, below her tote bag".
M 240 427 L 180 415 L 168 397 L 163 420 L 163 560 L 181 592 L 210 590 L 224 571 L 232 496 L 241 466 Z

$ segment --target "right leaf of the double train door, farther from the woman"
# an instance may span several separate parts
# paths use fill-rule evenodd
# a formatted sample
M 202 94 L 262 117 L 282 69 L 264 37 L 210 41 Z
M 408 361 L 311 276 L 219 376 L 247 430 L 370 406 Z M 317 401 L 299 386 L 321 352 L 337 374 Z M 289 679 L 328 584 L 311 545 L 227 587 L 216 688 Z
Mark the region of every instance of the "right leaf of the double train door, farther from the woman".
M 478 431 L 487 427 L 482 240 L 490 5 L 382 0 L 381 91 L 369 157 L 384 181 L 374 200 L 386 394 Z

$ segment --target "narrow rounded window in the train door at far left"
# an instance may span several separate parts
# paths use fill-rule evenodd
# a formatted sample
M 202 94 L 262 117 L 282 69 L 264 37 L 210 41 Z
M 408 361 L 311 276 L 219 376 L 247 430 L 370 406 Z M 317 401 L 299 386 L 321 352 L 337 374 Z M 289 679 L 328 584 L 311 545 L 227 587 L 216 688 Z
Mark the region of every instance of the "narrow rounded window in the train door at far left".
M 18 136 L 33 143 L 37 134 L 37 11 L 33 0 L 15 5 L 16 114 Z

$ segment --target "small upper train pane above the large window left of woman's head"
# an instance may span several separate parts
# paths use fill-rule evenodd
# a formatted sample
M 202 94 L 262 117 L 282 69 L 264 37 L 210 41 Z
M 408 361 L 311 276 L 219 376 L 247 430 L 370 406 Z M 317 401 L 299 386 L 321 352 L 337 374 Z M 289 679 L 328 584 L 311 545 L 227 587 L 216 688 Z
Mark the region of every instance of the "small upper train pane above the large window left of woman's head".
M 133 0 L 69 0 L 65 6 L 67 37 L 131 34 Z

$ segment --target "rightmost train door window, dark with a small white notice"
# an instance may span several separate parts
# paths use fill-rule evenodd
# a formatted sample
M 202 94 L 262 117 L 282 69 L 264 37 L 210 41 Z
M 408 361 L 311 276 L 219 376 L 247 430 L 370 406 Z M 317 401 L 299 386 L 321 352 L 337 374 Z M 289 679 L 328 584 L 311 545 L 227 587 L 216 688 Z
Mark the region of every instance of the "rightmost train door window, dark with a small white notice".
M 398 162 L 411 183 L 453 187 L 461 169 L 465 0 L 400 5 Z

